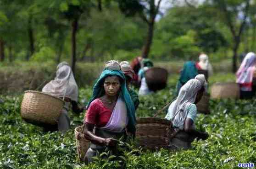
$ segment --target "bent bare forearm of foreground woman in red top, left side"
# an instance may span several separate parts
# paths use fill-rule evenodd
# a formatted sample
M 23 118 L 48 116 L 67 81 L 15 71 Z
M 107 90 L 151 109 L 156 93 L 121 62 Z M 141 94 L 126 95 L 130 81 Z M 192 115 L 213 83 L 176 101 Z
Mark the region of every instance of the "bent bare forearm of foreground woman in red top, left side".
M 98 137 L 93 133 L 95 125 L 84 122 L 83 134 L 86 139 L 90 140 L 92 143 L 101 144 L 106 146 L 114 146 L 118 143 L 118 140 L 113 138 L 102 138 Z

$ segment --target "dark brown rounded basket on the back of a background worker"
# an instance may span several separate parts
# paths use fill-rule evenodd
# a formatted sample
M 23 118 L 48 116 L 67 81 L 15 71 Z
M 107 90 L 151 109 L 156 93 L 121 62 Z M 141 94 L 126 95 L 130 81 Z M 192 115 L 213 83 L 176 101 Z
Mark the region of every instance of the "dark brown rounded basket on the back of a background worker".
M 168 72 L 163 68 L 150 68 L 145 71 L 146 83 L 151 91 L 162 90 L 167 85 Z

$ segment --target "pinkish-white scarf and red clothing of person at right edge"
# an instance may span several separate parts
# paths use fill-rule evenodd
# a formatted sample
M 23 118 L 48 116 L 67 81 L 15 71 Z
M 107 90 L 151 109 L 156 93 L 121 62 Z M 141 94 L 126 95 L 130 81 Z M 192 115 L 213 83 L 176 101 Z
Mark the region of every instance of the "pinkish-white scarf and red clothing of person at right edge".
M 247 53 L 236 73 L 236 83 L 241 84 L 241 90 L 252 90 L 252 79 L 255 71 L 256 55 L 253 52 Z

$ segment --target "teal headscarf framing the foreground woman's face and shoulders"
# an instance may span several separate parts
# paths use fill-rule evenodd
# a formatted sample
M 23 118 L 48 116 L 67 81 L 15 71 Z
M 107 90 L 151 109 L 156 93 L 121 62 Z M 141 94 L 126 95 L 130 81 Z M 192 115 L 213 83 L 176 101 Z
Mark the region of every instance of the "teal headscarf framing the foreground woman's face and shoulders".
M 113 75 L 116 75 L 123 80 L 122 86 L 121 86 L 121 94 L 122 94 L 121 97 L 124 100 L 127 108 L 127 114 L 128 114 L 127 129 L 129 132 L 134 132 L 136 131 L 136 126 L 135 126 L 136 117 L 135 117 L 134 103 L 126 88 L 125 76 L 121 70 L 108 70 L 108 69 L 103 70 L 103 72 L 100 75 L 100 78 L 96 81 L 93 87 L 93 93 L 92 93 L 91 99 L 88 102 L 87 108 L 89 108 L 93 100 L 99 98 L 102 95 L 102 92 L 104 91 L 102 84 L 104 83 L 104 80 L 106 79 L 106 77 L 113 76 Z

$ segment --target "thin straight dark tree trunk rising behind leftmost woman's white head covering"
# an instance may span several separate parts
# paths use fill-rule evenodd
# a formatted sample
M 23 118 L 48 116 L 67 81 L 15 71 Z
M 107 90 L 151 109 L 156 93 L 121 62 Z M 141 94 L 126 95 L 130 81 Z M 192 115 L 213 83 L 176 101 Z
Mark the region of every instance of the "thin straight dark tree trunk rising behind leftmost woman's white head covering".
M 76 33 L 78 30 L 78 18 L 75 18 L 72 22 L 72 58 L 71 58 L 71 68 L 73 71 L 73 74 L 75 74 L 75 68 L 76 68 Z

